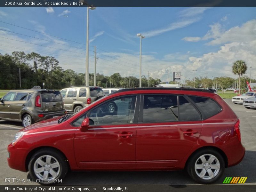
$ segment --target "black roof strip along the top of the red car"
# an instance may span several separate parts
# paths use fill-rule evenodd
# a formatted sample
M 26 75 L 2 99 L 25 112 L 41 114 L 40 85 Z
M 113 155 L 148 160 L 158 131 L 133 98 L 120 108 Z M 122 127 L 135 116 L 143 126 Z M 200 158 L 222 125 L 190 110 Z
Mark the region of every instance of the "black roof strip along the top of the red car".
M 207 90 L 207 89 L 194 89 L 194 88 L 171 88 L 171 87 L 143 87 L 143 88 L 128 88 L 128 89 L 121 89 L 118 91 L 115 91 L 113 93 L 110 93 L 109 95 L 117 94 L 120 92 L 129 92 L 129 91 L 146 91 L 146 90 L 170 90 L 170 91 L 195 91 L 195 92 L 207 92 L 207 93 L 212 93 L 214 92 Z

